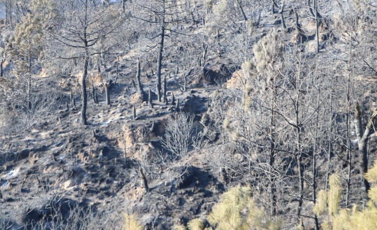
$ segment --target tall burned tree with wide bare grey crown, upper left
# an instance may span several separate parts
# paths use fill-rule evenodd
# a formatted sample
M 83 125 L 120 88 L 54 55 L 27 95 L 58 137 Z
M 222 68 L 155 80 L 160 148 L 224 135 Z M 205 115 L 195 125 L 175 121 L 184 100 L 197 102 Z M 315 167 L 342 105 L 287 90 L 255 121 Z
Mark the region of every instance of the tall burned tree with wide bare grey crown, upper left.
M 102 53 L 107 52 L 112 47 L 112 44 L 107 42 L 106 39 L 115 32 L 121 20 L 115 11 L 111 11 L 109 7 L 95 7 L 90 0 L 74 1 L 65 8 L 63 13 L 67 20 L 59 25 L 58 31 L 53 33 L 52 36 L 72 53 L 70 56 L 57 54 L 59 58 L 83 60 L 82 75 L 79 81 L 81 88 L 81 123 L 87 125 L 86 79 L 89 59 L 91 56 L 99 54 L 94 46 L 101 40 L 105 41 L 104 44 L 106 45 L 101 51 Z

